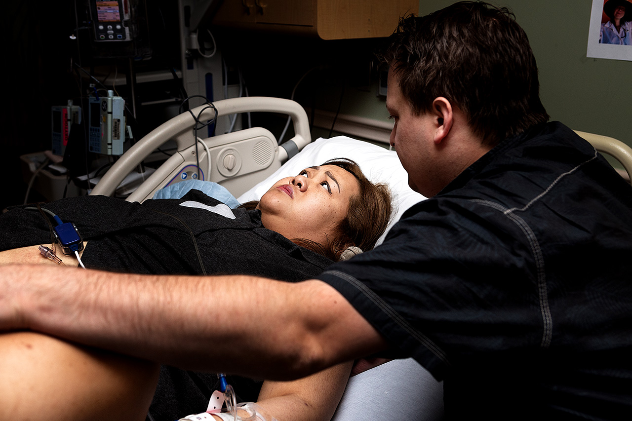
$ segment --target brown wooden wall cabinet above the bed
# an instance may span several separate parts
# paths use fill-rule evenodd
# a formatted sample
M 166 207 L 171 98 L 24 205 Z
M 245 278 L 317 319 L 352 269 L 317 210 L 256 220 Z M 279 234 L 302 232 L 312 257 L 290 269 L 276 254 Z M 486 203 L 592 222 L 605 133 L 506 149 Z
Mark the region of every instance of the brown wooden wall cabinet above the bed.
M 224 27 L 321 39 L 387 37 L 418 0 L 224 0 L 212 21 Z

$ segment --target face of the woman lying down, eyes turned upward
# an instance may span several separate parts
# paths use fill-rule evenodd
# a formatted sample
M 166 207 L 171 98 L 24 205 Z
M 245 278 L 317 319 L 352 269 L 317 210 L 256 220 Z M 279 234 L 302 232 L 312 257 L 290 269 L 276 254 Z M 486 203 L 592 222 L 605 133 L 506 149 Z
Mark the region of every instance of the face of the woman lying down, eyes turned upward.
M 327 245 L 327 238 L 334 238 L 336 224 L 348 212 L 349 200 L 359 192 L 358 180 L 344 169 L 310 167 L 277 181 L 257 209 L 265 228 L 290 240 L 303 238 Z

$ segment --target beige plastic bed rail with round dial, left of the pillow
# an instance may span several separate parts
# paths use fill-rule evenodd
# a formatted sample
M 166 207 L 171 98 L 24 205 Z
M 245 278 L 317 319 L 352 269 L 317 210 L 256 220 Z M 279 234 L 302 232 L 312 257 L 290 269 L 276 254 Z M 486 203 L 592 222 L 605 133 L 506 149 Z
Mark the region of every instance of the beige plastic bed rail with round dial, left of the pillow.
M 294 124 L 295 137 L 279 146 L 270 131 L 255 127 L 205 139 L 198 137 L 198 142 L 194 141 L 193 127 L 196 122 L 193 116 L 197 116 L 198 121 L 207 121 L 214 117 L 249 112 L 289 115 Z M 152 130 L 112 165 L 90 194 L 112 195 L 133 169 L 169 140 L 176 142 L 177 151 L 126 200 L 142 202 L 172 181 L 179 181 L 179 178 L 193 173 L 197 176 L 198 170 L 201 180 L 216 181 L 237 196 L 279 168 L 312 139 L 307 114 L 295 101 L 270 97 L 224 99 L 214 102 L 212 106 L 205 104 L 179 114 Z

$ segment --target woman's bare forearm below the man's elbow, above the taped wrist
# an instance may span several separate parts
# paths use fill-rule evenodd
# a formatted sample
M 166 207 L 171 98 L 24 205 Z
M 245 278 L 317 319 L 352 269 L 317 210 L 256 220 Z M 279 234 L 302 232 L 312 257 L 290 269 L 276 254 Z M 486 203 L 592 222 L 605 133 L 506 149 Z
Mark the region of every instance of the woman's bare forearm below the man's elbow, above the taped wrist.
M 303 379 L 265 381 L 257 405 L 267 421 L 329 421 L 343 396 L 351 362 L 334 365 Z

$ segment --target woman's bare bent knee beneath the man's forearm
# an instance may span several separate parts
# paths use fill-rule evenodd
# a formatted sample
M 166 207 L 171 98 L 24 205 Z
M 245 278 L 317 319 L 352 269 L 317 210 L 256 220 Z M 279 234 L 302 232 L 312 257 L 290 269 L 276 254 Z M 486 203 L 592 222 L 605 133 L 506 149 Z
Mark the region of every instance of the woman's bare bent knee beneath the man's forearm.
M 0 334 L 0 419 L 143 420 L 158 372 L 42 334 Z

